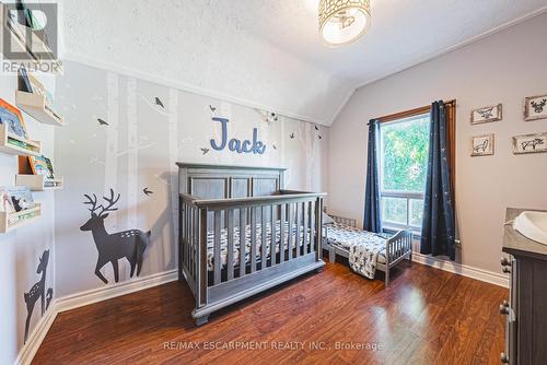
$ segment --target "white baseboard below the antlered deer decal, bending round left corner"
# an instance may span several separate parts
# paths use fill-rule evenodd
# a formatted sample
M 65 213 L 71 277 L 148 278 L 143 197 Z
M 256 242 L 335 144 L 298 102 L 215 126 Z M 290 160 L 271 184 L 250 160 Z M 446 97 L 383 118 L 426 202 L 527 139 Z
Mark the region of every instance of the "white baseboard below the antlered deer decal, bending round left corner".
M 32 363 L 34 355 L 42 344 L 42 341 L 44 341 L 49 328 L 59 313 L 139 292 L 144 289 L 162 285 L 176 280 L 178 280 L 178 271 L 171 270 L 54 299 L 45 316 L 31 333 L 28 341 L 26 341 L 26 344 L 21 349 L 19 356 L 15 360 L 15 365 L 27 365 Z

